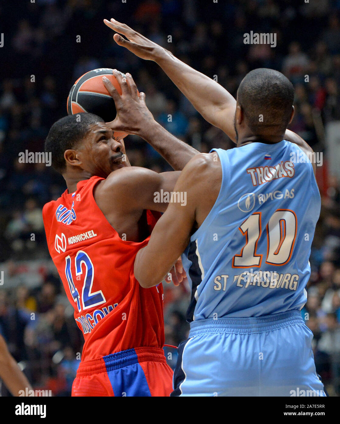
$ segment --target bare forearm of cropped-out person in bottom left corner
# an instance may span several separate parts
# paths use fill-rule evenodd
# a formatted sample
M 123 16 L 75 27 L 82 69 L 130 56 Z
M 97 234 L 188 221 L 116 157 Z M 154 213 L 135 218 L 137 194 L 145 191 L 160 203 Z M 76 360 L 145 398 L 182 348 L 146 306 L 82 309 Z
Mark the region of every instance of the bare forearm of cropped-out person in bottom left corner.
M 19 391 L 32 390 L 25 374 L 21 371 L 12 356 L 8 356 L 0 363 L 0 378 L 13 396 L 19 396 Z

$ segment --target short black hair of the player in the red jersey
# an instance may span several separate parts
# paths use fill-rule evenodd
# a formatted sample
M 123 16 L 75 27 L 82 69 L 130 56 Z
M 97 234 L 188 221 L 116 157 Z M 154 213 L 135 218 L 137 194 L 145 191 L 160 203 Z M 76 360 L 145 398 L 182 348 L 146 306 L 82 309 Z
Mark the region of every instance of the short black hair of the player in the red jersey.
M 68 115 L 55 122 L 45 140 L 45 152 L 51 152 L 52 166 L 60 173 L 66 170 L 64 153 L 74 149 L 88 133 L 89 127 L 104 120 L 93 113 Z

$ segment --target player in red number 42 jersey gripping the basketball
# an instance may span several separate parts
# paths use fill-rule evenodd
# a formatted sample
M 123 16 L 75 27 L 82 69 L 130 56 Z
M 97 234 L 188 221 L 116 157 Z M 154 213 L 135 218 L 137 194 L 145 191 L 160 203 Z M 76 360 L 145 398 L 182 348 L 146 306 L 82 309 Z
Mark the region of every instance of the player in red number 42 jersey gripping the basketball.
M 117 117 L 70 115 L 49 131 L 45 150 L 67 190 L 43 208 L 49 252 L 58 269 L 85 343 L 72 396 L 169 396 L 172 370 L 164 344 L 162 284 L 143 289 L 134 277 L 137 251 L 156 223 L 157 192 L 172 192 L 180 172 L 132 167 L 123 139 L 143 137 L 176 170 L 198 152 L 154 120 L 131 75 L 115 72 Z

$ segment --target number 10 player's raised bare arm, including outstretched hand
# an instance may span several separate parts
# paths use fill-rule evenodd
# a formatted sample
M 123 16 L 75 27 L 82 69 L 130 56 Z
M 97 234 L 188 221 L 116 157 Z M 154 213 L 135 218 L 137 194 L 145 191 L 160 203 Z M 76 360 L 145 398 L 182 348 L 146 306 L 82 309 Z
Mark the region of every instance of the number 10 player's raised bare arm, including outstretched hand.
M 127 25 L 114 19 L 111 21 L 105 19 L 104 23 L 113 31 L 126 36 L 127 40 L 119 34 L 113 36 L 118 45 L 126 47 L 142 59 L 152 60 L 159 64 L 203 118 L 211 125 L 222 129 L 235 141 L 236 100 L 226 89 Z

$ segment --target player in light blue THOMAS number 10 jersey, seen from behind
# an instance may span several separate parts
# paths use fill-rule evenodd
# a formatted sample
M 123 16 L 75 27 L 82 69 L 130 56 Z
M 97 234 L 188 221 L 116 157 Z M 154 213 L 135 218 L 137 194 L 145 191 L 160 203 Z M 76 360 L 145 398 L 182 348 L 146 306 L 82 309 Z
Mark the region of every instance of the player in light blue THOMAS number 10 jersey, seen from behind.
M 313 151 L 286 130 L 292 84 L 277 71 L 257 69 L 243 79 L 235 102 L 131 28 L 116 21 L 108 26 L 130 40 L 116 34 L 118 44 L 159 63 L 197 110 L 237 143 L 191 159 L 136 257 L 137 280 L 152 287 L 184 252 L 191 324 L 179 346 L 171 396 L 325 396 L 313 334 L 300 312 L 321 201 Z

